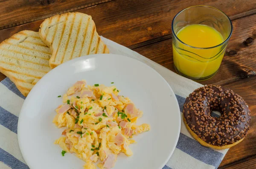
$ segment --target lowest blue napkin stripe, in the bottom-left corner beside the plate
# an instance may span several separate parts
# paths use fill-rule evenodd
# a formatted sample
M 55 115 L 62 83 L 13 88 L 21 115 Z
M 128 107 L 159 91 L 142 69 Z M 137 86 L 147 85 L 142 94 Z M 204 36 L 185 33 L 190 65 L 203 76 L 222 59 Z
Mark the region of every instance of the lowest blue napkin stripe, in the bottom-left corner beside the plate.
M 8 152 L 0 148 L 0 161 L 3 161 L 7 166 L 12 169 L 29 169 L 29 167 L 22 163 L 20 160 L 10 155 Z

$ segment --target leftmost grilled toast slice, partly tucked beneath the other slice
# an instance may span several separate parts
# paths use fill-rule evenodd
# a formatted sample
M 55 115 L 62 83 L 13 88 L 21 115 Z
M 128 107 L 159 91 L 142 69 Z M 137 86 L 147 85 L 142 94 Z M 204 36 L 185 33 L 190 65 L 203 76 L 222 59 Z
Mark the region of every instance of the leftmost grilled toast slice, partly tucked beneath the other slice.
M 0 72 L 27 96 L 35 83 L 51 70 L 51 55 L 38 32 L 21 31 L 0 44 Z

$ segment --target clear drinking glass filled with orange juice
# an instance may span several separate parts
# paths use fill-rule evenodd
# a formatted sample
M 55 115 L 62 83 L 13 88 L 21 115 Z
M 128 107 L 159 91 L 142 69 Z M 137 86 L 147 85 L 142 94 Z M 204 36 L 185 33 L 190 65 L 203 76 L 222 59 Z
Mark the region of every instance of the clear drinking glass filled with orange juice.
M 177 37 L 177 32 L 192 24 L 213 27 L 220 32 L 224 41 L 207 48 L 189 46 Z M 176 71 L 197 81 L 214 76 L 221 65 L 232 32 L 230 18 L 218 9 L 210 6 L 191 6 L 180 11 L 172 20 L 173 62 Z

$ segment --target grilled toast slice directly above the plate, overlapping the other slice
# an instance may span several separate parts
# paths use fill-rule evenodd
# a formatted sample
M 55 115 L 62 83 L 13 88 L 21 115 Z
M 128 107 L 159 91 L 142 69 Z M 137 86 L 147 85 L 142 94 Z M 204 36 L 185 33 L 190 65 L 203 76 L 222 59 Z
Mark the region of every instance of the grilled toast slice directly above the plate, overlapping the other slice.
M 49 60 L 52 69 L 76 57 L 109 53 L 87 14 L 69 12 L 50 17 L 41 24 L 39 35 L 52 51 Z

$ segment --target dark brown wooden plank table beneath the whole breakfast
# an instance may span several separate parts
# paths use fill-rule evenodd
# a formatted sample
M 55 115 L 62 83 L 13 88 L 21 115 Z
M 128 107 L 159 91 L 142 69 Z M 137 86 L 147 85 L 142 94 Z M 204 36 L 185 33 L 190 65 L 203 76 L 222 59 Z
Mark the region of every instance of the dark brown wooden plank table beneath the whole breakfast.
M 175 72 L 172 19 L 195 5 L 224 11 L 234 27 L 218 73 L 201 83 L 233 89 L 252 112 L 247 137 L 227 152 L 219 168 L 256 169 L 256 0 L 0 0 L 0 42 L 24 29 L 38 31 L 54 14 L 79 11 L 93 17 L 100 35 Z

